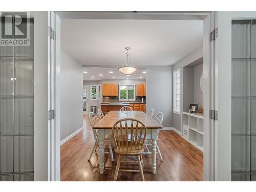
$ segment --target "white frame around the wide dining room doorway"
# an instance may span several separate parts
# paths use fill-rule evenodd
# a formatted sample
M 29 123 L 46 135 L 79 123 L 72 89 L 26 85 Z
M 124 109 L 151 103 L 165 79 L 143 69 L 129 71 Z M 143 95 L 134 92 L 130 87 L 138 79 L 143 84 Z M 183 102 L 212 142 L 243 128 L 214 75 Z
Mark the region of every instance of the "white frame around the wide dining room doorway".
M 55 22 L 57 22 L 58 24 L 55 23 L 55 26 L 60 26 L 60 20 L 61 19 L 165 19 L 165 20 L 203 20 L 203 24 L 204 24 L 204 52 L 203 52 L 203 57 L 204 57 L 204 78 L 205 78 L 205 82 L 207 86 L 212 86 L 212 76 L 211 76 L 211 66 L 214 64 L 212 62 L 214 62 L 214 60 L 212 59 L 214 57 L 214 53 L 215 50 L 212 49 L 212 43 L 210 43 L 209 41 L 209 37 L 210 37 L 210 31 L 212 30 L 212 27 L 214 26 L 214 12 L 211 11 L 180 11 L 180 12 L 172 12 L 172 11 L 164 11 L 164 12 L 156 12 L 156 11 L 142 11 L 142 12 L 137 12 L 136 14 L 129 12 L 129 11 L 124 11 L 124 12 L 108 12 L 108 11 L 89 11 L 89 12 L 65 12 L 65 11 L 57 11 L 56 15 L 59 16 L 59 20 L 55 19 Z M 56 31 L 56 35 L 55 35 L 56 39 L 60 38 L 60 31 Z M 59 49 L 58 51 L 60 51 L 60 47 L 55 47 L 56 49 Z M 56 51 L 56 52 L 58 52 Z M 57 59 L 57 55 L 56 55 L 56 60 L 59 60 L 60 58 Z M 60 56 L 59 56 L 60 57 Z M 58 76 L 59 74 L 57 74 L 58 71 L 56 70 L 56 76 Z M 207 87 L 205 86 L 205 87 Z M 59 92 L 59 88 L 57 88 L 58 85 L 56 84 L 56 99 L 55 100 L 59 100 L 59 96 L 60 94 L 57 93 Z M 210 90 L 214 90 L 211 87 L 208 87 L 208 89 L 204 90 L 204 126 L 205 126 L 205 130 L 212 130 L 210 126 L 212 126 L 212 124 L 209 121 L 209 110 L 210 110 L 210 106 L 212 101 L 210 99 L 213 99 L 212 97 L 210 97 Z M 60 113 L 60 108 L 56 108 L 56 119 L 55 121 L 58 123 L 56 123 L 56 126 L 60 126 L 60 118 L 57 117 L 57 114 Z M 56 130 L 60 130 L 60 127 L 55 127 Z M 214 140 L 212 141 L 212 139 L 210 139 L 210 137 L 212 137 L 210 135 L 210 132 L 205 132 L 204 134 L 204 180 L 205 181 L 213 181 L 215 180 L 214 177 L 214 171 L 212 170 L 212 167 L 214 167 L 214 163 L 215 163 L 215 157 L 212 156 L 212 154 L 209 152 L 210 148 L 214 148 L 214 146 L 212 146 L 214 144 Z M 55 135 L 54 137 L 51 137 L 52 142 L 56 143 L 56 140 L 59 139 L 59 136 Z M 208 142 L 208 141 L 212 141 L 212 142 Z M 59 151 L 59 145 L 56 145 L 56 147 L 58 147 L 58 149 L 56 149 L 56 152 Z M 58 161 L 58 162 L 57 162 Z M 53 162 L 51 162 L 53 163 Z M 58 164 L 58 165 L 57 165 Z M 55 158 L 55 166 L 59 166 L 60 165 L 60 161 L 58 158 Z M 51 168 L 53 168 L 54 166 L 52 166 Z M 55 172 L 55 175 L 60 175 L 59 170 L 54 169 L 52 170 L 52 172 Z M 60 178 L 60 176 L 56 176 L 55 178 Z M 53 178 L 54 179 L 54 178 Z

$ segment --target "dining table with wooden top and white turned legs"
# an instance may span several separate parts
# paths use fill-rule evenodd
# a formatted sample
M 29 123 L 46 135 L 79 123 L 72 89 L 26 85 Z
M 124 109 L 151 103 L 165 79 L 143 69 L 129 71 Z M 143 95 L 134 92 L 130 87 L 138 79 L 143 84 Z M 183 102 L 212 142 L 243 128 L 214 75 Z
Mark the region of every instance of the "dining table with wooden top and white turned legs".
M 142 111 L 110 111 L 102 119 L 100 119 L 94 126 L 93 129 L 98 130 L 99 139 L 99 169 L 100 174 L 104 172 L 104 139 L 106 135 L 112 134 L 113 125 L 120 119 L 133 118 L 141 121 L 146 126 L 147 138 L 151 138 L 152 144 L 152 173 L 156 174 L 156 154 L 157 154 L 157 138 L 160 129 L 163 126 L 159 124 L 154 118 L 150 117 Z

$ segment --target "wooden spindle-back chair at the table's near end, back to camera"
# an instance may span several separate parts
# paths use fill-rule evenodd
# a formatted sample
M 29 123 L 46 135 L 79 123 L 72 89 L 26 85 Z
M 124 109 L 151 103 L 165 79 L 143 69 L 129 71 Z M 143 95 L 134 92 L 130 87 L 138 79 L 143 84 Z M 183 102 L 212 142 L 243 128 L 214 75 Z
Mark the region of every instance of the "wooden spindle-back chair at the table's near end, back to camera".
M 131 135 L 132 138 L 129 136 Z M 142 181 L 143 162 L 142 153 L 146 137 L 146 126 L 136 119 L 126 118 L 118 120 L 112 127 L 112 136 L 115 142 L 115 153 L 117 154 L 117 165 L 115 170 L 114 181 L 117 180 L 118 172 L 139 172 Z M 122 161 L 122 156 L 137 156 L 137 161 Z M 119 169 L 120 163 L 138 163 L 139 169 Z

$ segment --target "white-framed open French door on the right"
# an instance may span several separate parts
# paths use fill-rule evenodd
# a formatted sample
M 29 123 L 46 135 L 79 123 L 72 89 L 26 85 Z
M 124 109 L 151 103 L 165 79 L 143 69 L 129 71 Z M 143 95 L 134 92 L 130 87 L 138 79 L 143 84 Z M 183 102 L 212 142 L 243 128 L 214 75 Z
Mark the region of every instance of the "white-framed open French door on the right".
M 232 44 L 236 43 L 234 42 L 232 37 L 232 20 L 250 20 L 256 18 L 256 12 L 255 11 L 220 11 L 217 13 L 217 27 L 218 27 L 218 37 L 216 38 L 216 109 L 218 110 L 218 120 L 217 124 L 215 126 L 216 129 L 216 145 L 215 145 L 215 180 L 217 181 L 230 181 L 230 180 L 248 180 L 246 177 L 246 173 L 243 173 L 242 177 L 233 174 L 234 170 L 234 156 L 232 153 L 232 143 L 237 143 L 239 147 L 233 147 L 234 151 L 239 151 L 242 146 L 244 148 L 240 150 L 242 153 L 240 153 L 240 157 L 243 156 L 242 160 L 244 160 L 244 165 L 248 164 L 246 163 L 251 161 L 250 157 L 245 158 L 246 154 L 248 154 L 246 151 L 250 151 L 251 154 L 255 155 L 255 151 L 253 152 L 252 148 L 247 146 L 247 139 L 248 136 L 241 136 L 241 135 L 233 135 L 233 124 L 232 123 L 232 113 L 234 112 L 242 112 L 240 118 L 241 121 L 244 121 L 242 119 L 243 115 L 246 113 L 243 113 L 243 111 L 246 111 L 245 109 L 252 109 L 251 106 L 246 106 L 247 102 L 237 102 L 237 104 L 233 105 L 232 103 L 237 101 L 238 98 L 236 97 L 236 89 L 238 86 L 238 83 L 241 81 L 237 81 L 237 78 L 232 78 L 232 65 L 236 65 L 236 62 L 233 62 L 234 57 L 239 55 L 238 53 L 235 55 L 232 55 Z M 246 27 L 240 32 L 245 33 L 247 31 Z M 250 30 L 248 34 L 251 34 Z M 255 35 L 254 35 L 255 36 Z M 237 37 L 237 40 L 243 40 L 248 38 L 248 35 L 245 35 L 243 37 Z M 244 48 L 244 44 L 240 44 L 237 46 L 241 51 L 247 52 L 249 55 L 249 59 L 251 60 L 251 45 L 248 46 L 248 49 Z M 235 60 L 239 59 L 245 59 L 246 57 L 237 58 Z M 248 58 L 247 58 L 248 59 Z M 240 62 L 240 61 L 239 61 Z M 245 80 L 248 76 L 243 75 L 246 71 L 243 68 L 243 63 L 240 62 L 237 76 L 238 78 L 241 78 L 240 80 Z M 245 62 L 246 63 L 246 62 Z M 246 66 L 246 65 L 244 65 Z M 251 66 L 251 63 L 249 63 L 249 66 Z M 248 68 L 250 73 L 252 72 L 250 68 Z M 233 68 L 234 70 L 234 68 Z M 233 71 L 234 72 L 234 71 Z M 250 76 L 249 73 L 249 76 Z M 253 72 L 252 72 L 253 73 Z M 234 76 L 233 76 L 234 77 Z M 250 80 L 250 79 L 249 79 Z M 236 82 L 237 81 L 237 82 Z M 246 80 L 245 80 L 246 81 Z M 246 89 L 247 84 L 243 84 L 242 88 Z M 241 87 L 241 86 L 240 86 Z M 249 88 L 251 90 L 251 88 Z M 240 100 L 242 99 L 241 95 Z M 243 95 L 244 96 L 244 95 Z M 249 99 L 252 99 L 251 93 L 250 95 L 247 95 Z M 232 108 L 232 106 L 240 106 L 239 110 L 236 111 L 236 109 Z M 255 115 L 254 115 L 255 116 Z M 249 118 L 250 119 L 250 118 Z M 241 123 L 240 121 L 240 123 Z M 248 122 L 245 120 L 244 122 Z M 242 124 L 245 125 L 245 124 Z M 249 120 L 248 125 L 251 126 L 251 120 Z M 241 129 L 241 127 L 240 127 Z M 233 130 L 234 131 L 234 130 Z M 246 133 L 247 134 L 247 133 Z M 250 133 L 249 133 L 250 134 Z M 249 142 L 248 142 L 249 144 Z M 252 155 L 253 157 L 253 155 Z M 236 158 L 235 158 L 236 159 Z M 247 160 L 248 159 L 248 160 Z M 241 159 L 240 159 L 241 160 Z M 238 160 L 238 162 L 241 162 Z M 231 165 L 232 164 L 232 165 Z M 246 165 L 247 166 L 247 165 Z M 232 172 L 232 175 L 231 175 Z M 242 173 L 241 173 L 242 174 Z M 250 176 L 252 177 L 252 175 Z M 247 178 L 247 179 L 246 179 Z M 250 178 L 251 179 L 251 178 Z

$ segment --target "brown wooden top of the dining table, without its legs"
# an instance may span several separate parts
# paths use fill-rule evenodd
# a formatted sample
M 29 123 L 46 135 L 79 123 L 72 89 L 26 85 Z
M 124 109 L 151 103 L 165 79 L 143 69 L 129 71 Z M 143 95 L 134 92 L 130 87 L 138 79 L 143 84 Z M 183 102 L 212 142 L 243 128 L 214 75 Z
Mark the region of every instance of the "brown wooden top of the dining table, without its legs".
M 142 111 L 110 111 L 99 122 L 97 122 L 93 129 L 112 129 L 115 122 L 124 118 L 134 118 L 146 126 L 146 129 L 162 129 L 163 126 L 159 124 L 155 119 L 148 116 Z

